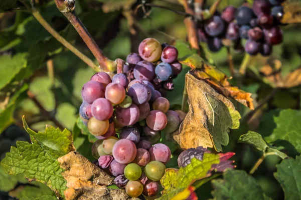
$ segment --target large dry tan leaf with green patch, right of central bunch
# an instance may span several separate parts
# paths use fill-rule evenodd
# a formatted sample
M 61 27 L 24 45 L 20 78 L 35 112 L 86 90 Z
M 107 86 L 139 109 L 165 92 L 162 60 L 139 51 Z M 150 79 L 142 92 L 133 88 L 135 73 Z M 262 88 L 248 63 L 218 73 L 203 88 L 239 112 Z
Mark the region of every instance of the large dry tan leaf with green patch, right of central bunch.
M 215 147 L 229 142 L 229 128 L 238 128 L 240 114 L 233 103 L 217 93 L 209 84 L 186 74 L 189 112 L 174 139 L 182 148 Z

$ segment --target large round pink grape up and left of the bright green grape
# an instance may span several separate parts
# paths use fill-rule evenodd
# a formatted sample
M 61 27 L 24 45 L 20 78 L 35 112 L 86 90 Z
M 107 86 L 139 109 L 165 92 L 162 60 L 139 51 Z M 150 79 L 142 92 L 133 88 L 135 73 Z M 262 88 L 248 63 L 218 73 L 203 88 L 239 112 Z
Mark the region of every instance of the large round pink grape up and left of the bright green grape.
M 113 157 L 122 164 L 133 161 L 136 156 L 137 148 L 131 140 L 119 139 L 113 146 Z

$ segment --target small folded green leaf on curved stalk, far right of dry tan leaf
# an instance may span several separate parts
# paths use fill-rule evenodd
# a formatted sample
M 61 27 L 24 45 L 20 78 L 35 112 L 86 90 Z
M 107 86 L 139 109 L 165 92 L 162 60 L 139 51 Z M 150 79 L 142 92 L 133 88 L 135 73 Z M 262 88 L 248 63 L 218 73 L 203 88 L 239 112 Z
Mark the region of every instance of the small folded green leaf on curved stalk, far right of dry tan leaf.
M 276 148 L 267 145 L 266 142 L 262 139 L 262 136 L 254 131 L 248 131 L 246 134 L 243 134 L 239 137 L 238 142 L 240 143 L 247 143 L 254 146 L 257 150 L 260 151 L 267 151 L 267 152 L 274 152 L 275 155 L 278 155 L 282 159 L 287 157 L 285 153 L 277 150 Z

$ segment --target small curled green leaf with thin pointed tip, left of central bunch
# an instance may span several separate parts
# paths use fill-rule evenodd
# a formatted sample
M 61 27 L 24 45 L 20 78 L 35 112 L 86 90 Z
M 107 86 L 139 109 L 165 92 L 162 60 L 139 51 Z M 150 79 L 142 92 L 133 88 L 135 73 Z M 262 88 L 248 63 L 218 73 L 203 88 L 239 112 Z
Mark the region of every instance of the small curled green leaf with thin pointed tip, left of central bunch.
M 38 143 L 41 144 L 41 147 L 47 151 L 55 152 L 54 154 L 51 153 L 55 158 L 75 150 L 72 133 L 66 128 L 61 131 L 60 128 L 46 125 L 45 132 L 35 132 L 28 127 L 24 116 L 22 121 L 25 130 L 35 137 Z

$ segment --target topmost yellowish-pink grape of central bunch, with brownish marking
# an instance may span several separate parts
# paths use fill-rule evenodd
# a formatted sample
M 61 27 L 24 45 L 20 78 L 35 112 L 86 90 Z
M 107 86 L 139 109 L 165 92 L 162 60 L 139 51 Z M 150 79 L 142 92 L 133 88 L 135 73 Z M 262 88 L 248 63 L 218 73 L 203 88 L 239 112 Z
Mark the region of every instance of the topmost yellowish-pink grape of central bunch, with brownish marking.
M 162 48 L 157 39 L 146 38 L 139 44 L 138 51 L 142 59 L 155 62 L 161 57 Z

